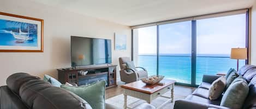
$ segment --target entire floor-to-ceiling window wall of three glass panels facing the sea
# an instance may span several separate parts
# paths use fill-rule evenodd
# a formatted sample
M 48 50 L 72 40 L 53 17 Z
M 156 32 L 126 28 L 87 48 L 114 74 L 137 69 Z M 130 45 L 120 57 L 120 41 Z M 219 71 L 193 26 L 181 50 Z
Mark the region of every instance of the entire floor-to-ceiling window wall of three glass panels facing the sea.
M 204 74 L 236 69 L 231 48 L 248 48 L 248 10 L 154 24 L 133 29 L 133 60 L 148 75 L 164 75 L 182 85 L 196 86 Z M 239 67 L 246 64 L 239 62 Z

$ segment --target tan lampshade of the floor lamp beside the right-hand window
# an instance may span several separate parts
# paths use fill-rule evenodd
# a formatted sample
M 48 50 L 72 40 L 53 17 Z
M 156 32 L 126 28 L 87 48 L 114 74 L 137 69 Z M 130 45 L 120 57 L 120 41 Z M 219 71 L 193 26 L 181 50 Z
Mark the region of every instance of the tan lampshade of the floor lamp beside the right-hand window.
M 247 59 L 247 48 L 231 48 L 231 59 Z

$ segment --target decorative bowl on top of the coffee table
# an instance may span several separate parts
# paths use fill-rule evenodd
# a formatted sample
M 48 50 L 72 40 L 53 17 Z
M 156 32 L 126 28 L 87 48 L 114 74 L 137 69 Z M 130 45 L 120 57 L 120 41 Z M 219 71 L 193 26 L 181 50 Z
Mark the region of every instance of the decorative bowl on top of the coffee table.
M 148 78 L 142 78 L 141 81 L 147 85 L 153 85 L 153 84 L 157 84 L 159 81 L 161 81 L 163 79 L 164 79 L 164 76 L 152 75 L 152 76 L 148 76 Z

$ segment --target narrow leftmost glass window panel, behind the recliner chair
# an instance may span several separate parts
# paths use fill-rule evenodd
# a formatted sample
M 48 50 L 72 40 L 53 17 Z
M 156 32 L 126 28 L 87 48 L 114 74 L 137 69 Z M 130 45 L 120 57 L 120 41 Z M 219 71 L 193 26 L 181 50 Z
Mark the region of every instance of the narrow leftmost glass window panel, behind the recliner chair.
M 133 43 L 135 66 L 146 68 L 148 75 L 157 75 L 157 26 L 134 29 Z

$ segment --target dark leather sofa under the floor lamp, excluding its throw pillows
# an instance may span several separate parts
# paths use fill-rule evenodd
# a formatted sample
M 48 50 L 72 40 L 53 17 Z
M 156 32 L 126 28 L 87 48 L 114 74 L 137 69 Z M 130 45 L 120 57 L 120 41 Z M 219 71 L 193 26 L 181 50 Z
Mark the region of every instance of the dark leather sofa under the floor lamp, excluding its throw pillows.
M 239 75 L 243 76 L 248 83 L 249 93 L 243 103 L 243 109 L 256 108 L 256 66 L 246 65 L 240 68 Z M 218 75 L 204 75 L 201 85 L 186 99 L 175 101 L 174 109 L 228 109 L 228 107 L 219 106 L 222 97 L 217 100 L 209 99 L 209 88 L 213 81 L 219 78 Z M 242 102 L 242 101 L 241 101 Z

